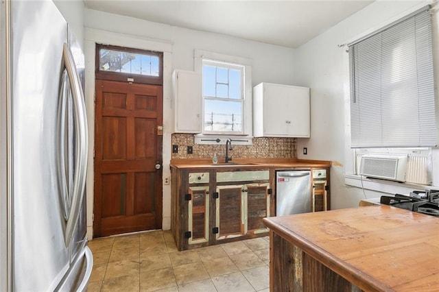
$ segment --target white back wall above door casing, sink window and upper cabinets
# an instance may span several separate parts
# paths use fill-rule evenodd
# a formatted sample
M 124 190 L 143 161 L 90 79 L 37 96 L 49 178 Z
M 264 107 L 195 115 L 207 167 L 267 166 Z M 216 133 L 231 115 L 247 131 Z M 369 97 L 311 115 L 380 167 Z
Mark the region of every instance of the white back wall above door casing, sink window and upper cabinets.
M 183 29 L 96 10 L 85 11 L 86 27 L 171 42 L 174 69 L 193 70 L 193 50 L 202 49 L 253 60 L 253 85 L 260 82 L 285 84 L 292 82 L 294 49 Z

